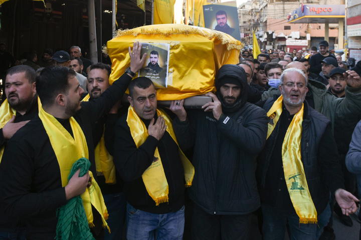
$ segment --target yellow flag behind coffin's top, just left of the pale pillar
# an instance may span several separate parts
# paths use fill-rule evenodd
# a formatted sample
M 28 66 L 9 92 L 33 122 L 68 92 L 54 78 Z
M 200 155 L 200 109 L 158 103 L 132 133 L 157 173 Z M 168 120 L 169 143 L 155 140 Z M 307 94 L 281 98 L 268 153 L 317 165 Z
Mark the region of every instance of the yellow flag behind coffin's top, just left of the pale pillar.
M 175 0 L 154 0 L 153 24 L 173 23 L 174 3 Z

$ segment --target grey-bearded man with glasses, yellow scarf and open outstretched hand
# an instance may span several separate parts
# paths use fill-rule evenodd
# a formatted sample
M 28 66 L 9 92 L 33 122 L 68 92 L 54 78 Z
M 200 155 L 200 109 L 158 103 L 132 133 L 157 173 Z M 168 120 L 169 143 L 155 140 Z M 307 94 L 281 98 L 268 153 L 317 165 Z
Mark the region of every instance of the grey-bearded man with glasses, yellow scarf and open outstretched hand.
M 317 218 L 324 217 L 329 192 L 348 215 L 358 201 L 344 190 L 331 123 L 309 107 L 303 71 L 283 71 L 281 96 L 269 98 L 266 145 L 258 157 L 257 180 L 264 216 L 263 239 L 316 239 Z

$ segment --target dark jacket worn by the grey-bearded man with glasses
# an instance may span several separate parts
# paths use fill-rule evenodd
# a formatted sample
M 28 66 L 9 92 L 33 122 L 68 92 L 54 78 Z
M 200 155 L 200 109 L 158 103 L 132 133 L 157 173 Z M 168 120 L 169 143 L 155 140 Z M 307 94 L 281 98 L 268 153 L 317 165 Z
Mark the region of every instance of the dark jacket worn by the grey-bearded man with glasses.
M 277 96 L 269 98 L 264 109 L 267 111 L 271 108 Z M 337 147 L 330 132 L 331 123 L 324 115 L 308 106 L 304 101 L 302 133 L 301 133 L 301 156 L 304 172 L 307 179 L 308 188 L 312 197 L 312 201 L 318 213 L 323 212 L 329 200 L 329 191 L 333 194 L 338 188 L 344 188 L 342 172 L 338 162 Z M 282 113 L 283 114 L 283 113 Z M 279 132 L 279 125 L 276 124 L 275 129 L 266 141 L 266 145 L 258 157 L 257 165 L 257 181 L 261 199 L 269 201 L 272 196 L 262 194 L 265 187 L 267 174 L 271 174 L 268 170 L 272 151 L 275 146 L 276 138 Z M 323 136 L 329 136 L 329 142 L 325 142 Z M 329 152 L 319 152 L 321 145 L 326 143 L 329 145 Z

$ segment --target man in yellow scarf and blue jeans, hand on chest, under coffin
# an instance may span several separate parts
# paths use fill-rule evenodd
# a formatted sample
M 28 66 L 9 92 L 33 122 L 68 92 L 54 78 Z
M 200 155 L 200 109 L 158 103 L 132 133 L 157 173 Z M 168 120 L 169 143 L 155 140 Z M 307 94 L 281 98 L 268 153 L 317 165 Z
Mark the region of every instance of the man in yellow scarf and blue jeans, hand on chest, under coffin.
M 157 109 L 153 82 L 147 77 L 132 80 L 128 100 L 114 141 L 114 165 L 128 202 L 127 239 L 180 240 L 185 182 L 192 184 L 194 167 L 178 147 L 171 119 Z

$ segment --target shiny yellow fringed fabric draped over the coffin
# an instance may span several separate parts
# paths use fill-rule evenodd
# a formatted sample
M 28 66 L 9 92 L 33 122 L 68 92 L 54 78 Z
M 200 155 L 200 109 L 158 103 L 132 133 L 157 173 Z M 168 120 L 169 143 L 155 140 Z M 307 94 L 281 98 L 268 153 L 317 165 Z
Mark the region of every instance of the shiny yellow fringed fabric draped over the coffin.
M 158 100 L 178 100 L 215 91 L 218 69 L 224 64 L 238 63 L 243 47 L 239 40 L 226 33 L 184 24 L 118 30 L 106 48 L 112 61 L 111 84 L 129 66 L 128 47 L 133 47 L 135 41 L 170 44 L 168 86 L 158 88 Z

